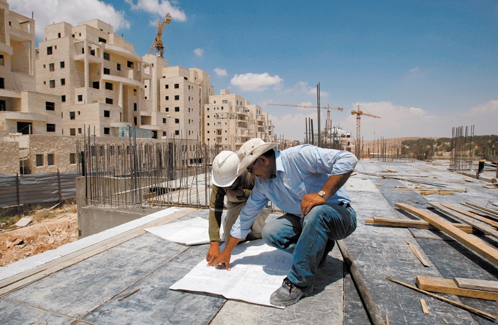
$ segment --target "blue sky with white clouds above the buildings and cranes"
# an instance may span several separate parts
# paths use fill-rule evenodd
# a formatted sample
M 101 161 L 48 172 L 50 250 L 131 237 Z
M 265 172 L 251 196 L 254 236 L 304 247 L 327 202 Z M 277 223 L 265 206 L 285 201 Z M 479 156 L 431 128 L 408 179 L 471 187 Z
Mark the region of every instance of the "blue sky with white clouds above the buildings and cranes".
M 267 103 L 341 106 L 332 123 L 356 135 L 360 105 L 365 140 L 451 137 L 475 125 L 497 134 L 498 2 L 490 1 L 200 1 L 10 0 L 36 19 L 37 39 L 53 22 L 101 19 L 144 55 L 158 21 L 169 65 L 206 70 L 212 85 L 269 112 L 276 134 L 303 140 L 316 109 Z M 325 127 L 326 110 L 321 126 Z

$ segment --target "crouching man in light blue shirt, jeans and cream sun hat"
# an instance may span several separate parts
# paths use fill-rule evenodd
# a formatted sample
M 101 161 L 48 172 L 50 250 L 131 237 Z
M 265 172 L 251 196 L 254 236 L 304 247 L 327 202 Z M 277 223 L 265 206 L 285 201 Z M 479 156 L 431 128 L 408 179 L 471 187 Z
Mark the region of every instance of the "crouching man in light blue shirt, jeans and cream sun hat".
M 270 303 L 295 304 L 313 291 L 313 277 L 335 240 L 356 229 L 356 213 L 342 186 L 358 160 L 346 151 L 305 144 L 275 151 L 278 143 L 251 139 L 239 149 L 239 172 L 246 169 L 257 179 L 235 222 L 230 239 L 218 258 L 208 265 L 230 270 L 231 252 L 251 230 L 268 201 L 286 214 L 267 222 L 262 236 L 268 245 L 292 253 L 292 267 Z

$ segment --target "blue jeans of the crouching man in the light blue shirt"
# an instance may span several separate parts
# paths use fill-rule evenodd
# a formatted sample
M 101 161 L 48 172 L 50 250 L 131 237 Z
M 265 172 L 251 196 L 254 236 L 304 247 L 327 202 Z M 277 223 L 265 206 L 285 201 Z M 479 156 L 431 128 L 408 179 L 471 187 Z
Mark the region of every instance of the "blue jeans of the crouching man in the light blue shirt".
M 325 251 L 327 239 L 340 240 L 356 230 L 356 212 L 351 207 L 314 206 L 303 218 L 284 214 L 266 223 L 266 244 L 292 254 L 287 278 L 298 286 L 309 286 Z

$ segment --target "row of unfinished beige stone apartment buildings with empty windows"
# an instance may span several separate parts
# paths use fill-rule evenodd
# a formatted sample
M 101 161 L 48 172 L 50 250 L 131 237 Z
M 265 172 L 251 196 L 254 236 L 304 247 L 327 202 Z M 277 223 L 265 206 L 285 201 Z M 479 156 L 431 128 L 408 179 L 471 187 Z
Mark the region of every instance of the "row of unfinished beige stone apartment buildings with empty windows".
M 75 171 L 85 134 L 111 144 L 133 134 L 230 148 L 275 141 L 268 114 L 228 90 L 215 95 L 206 71 L 140 57 L 98 19 L 51 24 L 35 48 L 34 20 L 0 0 L 0 155 L 9 156 L 0 173 Z

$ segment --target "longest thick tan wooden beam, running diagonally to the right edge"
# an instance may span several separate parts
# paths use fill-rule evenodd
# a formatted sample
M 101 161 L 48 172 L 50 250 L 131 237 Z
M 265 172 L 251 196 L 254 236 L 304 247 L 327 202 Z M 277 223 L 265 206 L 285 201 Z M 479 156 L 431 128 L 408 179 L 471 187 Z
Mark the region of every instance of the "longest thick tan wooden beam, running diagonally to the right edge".
M 411 214 L 416 215 L 417 217 L 426 220 L 427 222 L 432 224 L 432 226 L 436 227 L 445 234 L 456 239 L 458 242 L 470 248 L 475 253 L 481 255 L 482 257 L 484 257 L 494 265 L 498 265 L 498 250 L 487 245 L 479 238 L 472 236 L 470 234 L 466 234 L 461 229 L 458 229 L 455 226 L 453 226 L 450 222 L 445 221 L 439 217 L 436 217 L 435 215 L 432 215 L 429 212 L 422 211 L 420 209 L 412 207 L 408 204 L 395 203 L 394 206 L 396 208 L 400 208 L 402 210 L 410 212 Z

